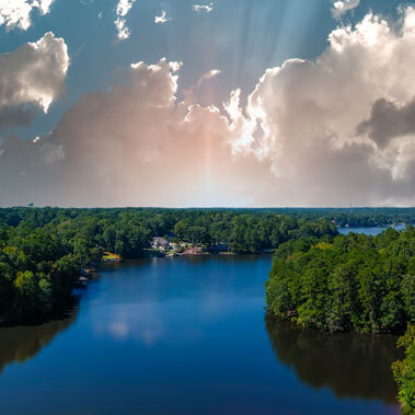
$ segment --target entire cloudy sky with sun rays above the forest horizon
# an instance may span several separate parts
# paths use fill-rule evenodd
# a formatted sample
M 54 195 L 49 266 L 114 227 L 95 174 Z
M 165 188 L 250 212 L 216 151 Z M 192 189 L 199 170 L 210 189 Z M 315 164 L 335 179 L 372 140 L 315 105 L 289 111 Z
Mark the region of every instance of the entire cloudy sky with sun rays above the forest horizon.
M 0 206 L 414 206 L 415 2 L 0 0 Z

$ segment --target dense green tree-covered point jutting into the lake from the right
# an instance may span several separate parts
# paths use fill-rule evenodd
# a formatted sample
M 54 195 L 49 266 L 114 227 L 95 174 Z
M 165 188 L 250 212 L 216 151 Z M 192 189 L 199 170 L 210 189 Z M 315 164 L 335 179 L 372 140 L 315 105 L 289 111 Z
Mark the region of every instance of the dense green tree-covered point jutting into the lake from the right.
M 276 315 L 331 332 L 399 333 L 415 321 L 415 229 L 281 244 L 266 284 Z

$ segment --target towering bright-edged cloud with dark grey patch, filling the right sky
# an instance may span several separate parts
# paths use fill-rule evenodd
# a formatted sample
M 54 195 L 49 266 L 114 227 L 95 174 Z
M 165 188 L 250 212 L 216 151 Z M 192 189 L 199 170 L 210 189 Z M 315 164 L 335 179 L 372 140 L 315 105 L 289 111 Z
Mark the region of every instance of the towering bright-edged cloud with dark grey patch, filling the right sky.
M 414 9 L 403 18 L 394 32 L 368 14 L 356 27 L 334 30 L 315 61 L 290 59 L 267 69 L 249 96 L 246 116 L 234 93 L 228 107 L 239 131 L 235 153 L 270 158 L 295 204 L 414 204 Z M 379 100 L 401 108 L 388 107 L 388 139 L 370 127 Z M 396 131 L 406 136 L 388 141 Z

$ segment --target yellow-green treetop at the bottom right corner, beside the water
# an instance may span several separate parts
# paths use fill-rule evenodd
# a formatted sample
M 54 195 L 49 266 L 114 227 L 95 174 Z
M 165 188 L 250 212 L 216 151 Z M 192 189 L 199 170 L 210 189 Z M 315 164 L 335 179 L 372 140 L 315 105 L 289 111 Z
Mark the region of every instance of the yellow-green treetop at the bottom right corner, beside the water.
M 399 400 L 403 414 L 415 413 L 415 325 L 408 324 L 406 333 L 397 341 L 405 348 L 405 358 L 392 365 L 393 374 L 399 384 Z

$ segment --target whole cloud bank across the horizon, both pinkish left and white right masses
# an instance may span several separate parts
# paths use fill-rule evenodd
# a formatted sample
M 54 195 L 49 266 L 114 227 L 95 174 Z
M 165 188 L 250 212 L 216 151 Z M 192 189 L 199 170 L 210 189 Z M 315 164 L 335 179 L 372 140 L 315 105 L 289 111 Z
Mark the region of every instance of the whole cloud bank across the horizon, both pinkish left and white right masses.
M 267 69 L 245 105 L 240 90 L 223 108 L 181 101 L 180 62 L 134 64 L 50 135 L 3 140 L 1 204 L 414 205 L 415 10 L 402 18 L 334 30 L 314 61 Z

